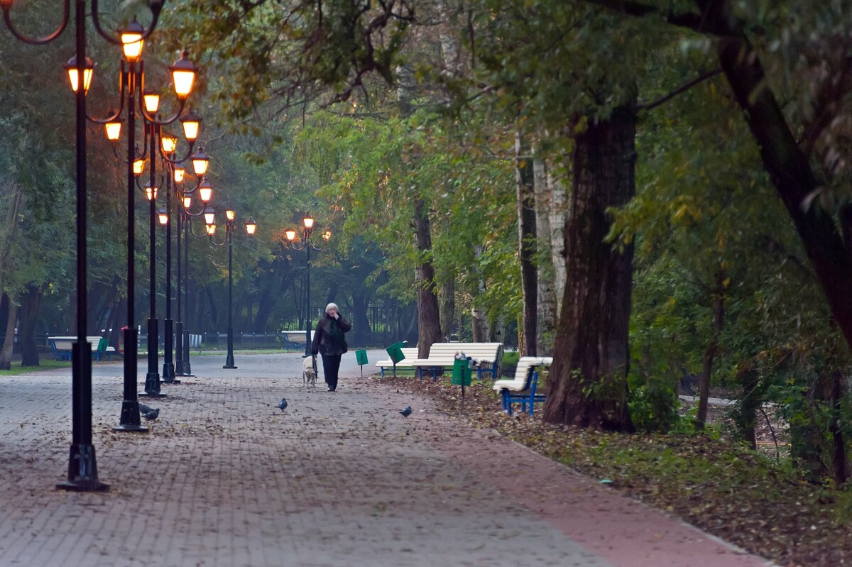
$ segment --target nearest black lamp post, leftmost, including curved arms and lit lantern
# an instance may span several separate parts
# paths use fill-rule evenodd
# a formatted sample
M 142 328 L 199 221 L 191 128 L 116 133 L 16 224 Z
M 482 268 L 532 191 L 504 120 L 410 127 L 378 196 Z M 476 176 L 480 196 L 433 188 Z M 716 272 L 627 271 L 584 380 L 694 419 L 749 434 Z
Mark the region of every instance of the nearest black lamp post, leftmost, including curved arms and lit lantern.
M 142 31 L 138 41 L 147 38 L 157 26 L 164 0 L 148 3 L 152 12 L 152 21 L 147 30 Z M 3 20 L 9 31 L 24 43 L 43 45 L 50 43 L 65 31 L 70 20 L 71 1 L 62 3 L 62 19 L 55 31 L 44 37 L 29 37 L 18 31 L 12 22 L 11 9 L 14 0 L 0 0 Z M 95 29 L 110 43 L 120 44 L 101 29 L 98 2 L 91 3 L 92 20 Z M 109 490 L 109 485 L 98 479 L 95 445 L 92 443 L 92 358 L 91 345 L 86 340 L 87 317 L 87 199 L 86 199 L 86 92 L 89 89 L 93 66 L 86 58 L 86 3 L 74 2 L 75 57 L 74 64 L 68 69 L 72 89 L 76 94 L 76 147 L 77 147 L 77 341 L 72 346 L 72 443 L 69 448 L 67 480 L 57 484 L 60 490 L 96 491 Z M 82 79 L 82 80 L 81 80 Z M 82 88 L 80 88 L 82 87 Z

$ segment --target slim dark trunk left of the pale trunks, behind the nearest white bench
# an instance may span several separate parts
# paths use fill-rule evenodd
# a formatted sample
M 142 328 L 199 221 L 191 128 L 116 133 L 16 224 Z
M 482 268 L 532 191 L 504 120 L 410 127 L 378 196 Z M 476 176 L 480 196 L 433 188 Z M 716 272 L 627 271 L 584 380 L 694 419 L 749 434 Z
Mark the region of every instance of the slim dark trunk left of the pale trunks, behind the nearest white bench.
M 518 257 L 521 260 L 523 310 L 518 325 L 518 351 L 521 356 L 536 356 L 536 307 L 538 304 L 538 272 L 535 267 L 536 220 L 533 191 L 533 161 L 529 148 L 515 132 L 515 202 L 518 214 Z

